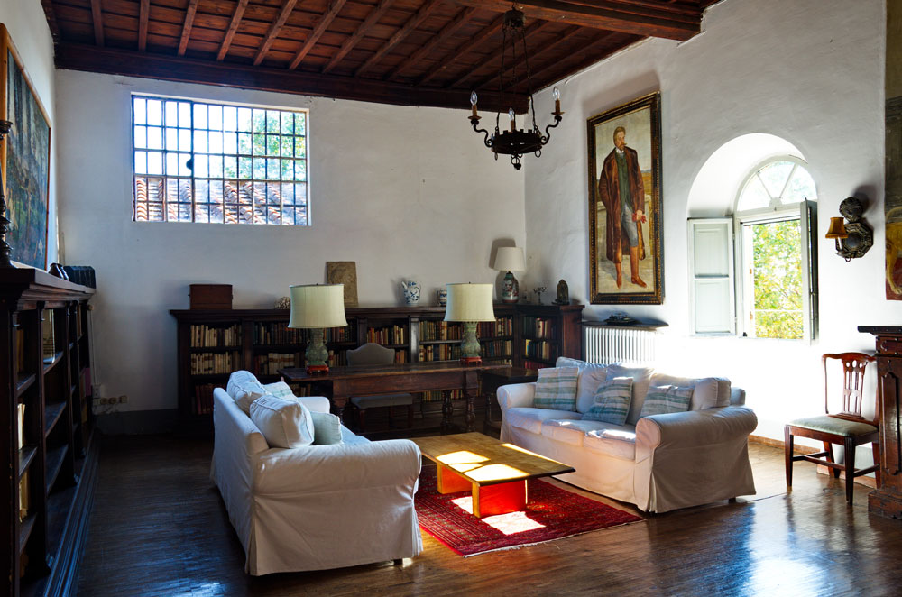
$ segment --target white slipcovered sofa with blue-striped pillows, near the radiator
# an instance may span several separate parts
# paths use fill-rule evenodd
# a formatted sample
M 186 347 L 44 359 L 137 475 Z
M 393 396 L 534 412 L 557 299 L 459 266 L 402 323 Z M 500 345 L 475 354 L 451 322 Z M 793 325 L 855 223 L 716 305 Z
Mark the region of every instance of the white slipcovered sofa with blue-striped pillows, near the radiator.
M 716 400 L 727 406 L 703 408 L 694 396 L 686 412 L 639 418 L 649 384 L 675 383 L 678 378 L 651 369 L 558 359 L 557 366 L 562 365 L 580 367 L 576 411 L 534 408 L 535 383 L 502 386 L 497 391 L 502 441 L 573 466 L 575 473 L 560 475 L 562 481 L 647 512 L 755 493 L 748 438 L 758 418 L 742 406 L 744 390 L 718 379 Z M 626 424 L 582 420 L 598 384 L 622 376 L 634 379 Z M 678 381 L 676 385 L 697 380 Z M 697 388 L 695 392 L 701 394 Z

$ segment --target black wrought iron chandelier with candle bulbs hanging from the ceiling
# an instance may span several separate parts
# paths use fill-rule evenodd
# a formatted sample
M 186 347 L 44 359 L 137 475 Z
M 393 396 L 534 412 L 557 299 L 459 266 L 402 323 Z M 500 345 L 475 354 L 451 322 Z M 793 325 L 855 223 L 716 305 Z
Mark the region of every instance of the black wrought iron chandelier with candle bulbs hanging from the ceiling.
M 523 48 L 522 61 L 524 68 L 526 69 L 526 85 L 527 91 L 529 92 L 529 112 L 532 115 L 532 128 L 523 128 L 518 130 L 517 114 L 514 112 L 513 108 L 511 108 L 508 110 L 508 117 L 511 119 L 510 129 L 502 131 L 499 127 L 499 122 L 501 121 L 501 113 L 499 112 L 497 115 L 495 115 L 495 132 L 492 133 L 492 136 L 489 136 L 488 131 L 479 128 L 479 121 L 482 116 L 478 115 L 476 112 L 476 102 L 478 101 L 479 97 L 476 96 L 475 91 L 470 94 L 470 106 L 473 108 L 473 114 L 470 115 L 470 124 L 473 125 L 473 130 L 476 133 L 483 133 L 483 142 L 485 143 L 485 146 L 491 149 L 495 154 L 495 160 L 498 159 L 499 153 L 510 155 L 511 164 L 513 164 L 513 167 L 516 170 L 520 170 L 520 168 L 522 167 L 520 158 L 522 158 L 525 153 L 535 153 L 537 158 L 542 154 L 542 147 L 544 147 L 545 144 L 548 143 L 548 141 L 551 139 L 550 130 L 560 124 L 561 116 L 563 116 L 564 113 L 561 112 L 560 91 L 557 89 L 557 87 L 555 87 L 552 94 L 555 98 L 555 111 L 551 113 L 551 115 L 555 117 L 555 123 L 548 124 L 548 126 L 545 127 L 545 134 L 542 134 L 542 132 L 538 128 L 538 124 L 536 124 L 536 105 L 532 99 L 532 80 L 529 72 L 529 54 L 526 51 L 525 15 L 522 13 L 522 11 L 519 11 L 516 8 L 511 8 L 511 10 L 504 14 L 504 26 L 502 27 L 502 67 L 501 72 L 499 72 L 498 74 L 498 90 L 504 90 L 504 60 L 509 51 L 509 39 L 511 60 L 513 62 L 513 67 L 511 67 L 511 84 L 516 82 L 517 77 L 516 66 L 518 41 L 520 41 L 520 45 Z

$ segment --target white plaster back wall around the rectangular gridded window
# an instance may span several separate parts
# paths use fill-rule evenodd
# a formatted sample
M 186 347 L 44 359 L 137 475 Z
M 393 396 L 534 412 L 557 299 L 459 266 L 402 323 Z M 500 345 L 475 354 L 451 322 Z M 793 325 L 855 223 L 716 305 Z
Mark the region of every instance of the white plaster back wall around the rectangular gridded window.
M 189 284 L 229 283 L 235 308 L 357 263 L 361 306 L 424 304 L 446 282 L 497 279 L 493 243 L 525 241 L 523 174 L 492 161 L 465 110 L 382 106 L 60 70 L 60 230 L 67 262 L 97 270 L 97 381 L 120 409 L 176 407 L 171 308 Z M 310 110 L 310 227 L 131 221 L 132 92 Z

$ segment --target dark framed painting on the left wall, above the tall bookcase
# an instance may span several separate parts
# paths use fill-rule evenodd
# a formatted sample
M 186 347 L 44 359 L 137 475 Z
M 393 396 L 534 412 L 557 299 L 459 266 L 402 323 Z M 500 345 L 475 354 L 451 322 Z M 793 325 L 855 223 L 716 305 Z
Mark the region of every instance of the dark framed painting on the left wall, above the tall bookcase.
M 10 220 L 6 243 L 14 262 L 47 268 L 51 124 L 41 100 L 0 23 L 0 119 L 13 122 L 0 146 L 0 169 Z

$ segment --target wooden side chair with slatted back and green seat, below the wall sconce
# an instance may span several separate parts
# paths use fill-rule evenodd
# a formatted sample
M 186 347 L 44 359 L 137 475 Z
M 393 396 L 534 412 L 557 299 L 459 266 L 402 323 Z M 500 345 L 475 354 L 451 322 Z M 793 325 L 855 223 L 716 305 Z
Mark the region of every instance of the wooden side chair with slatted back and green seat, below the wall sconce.
M 837 359 L 842 361 L 842 411 L 831 414 L 829 394 L 827 392 L 827 361 Z M 855 477 L 862 474 L 876 473 L 877 485 L 880 484 L 880 444 L 879 444 L 879 414 L 876 409 L 873 419 L 861 416 L 862 390 L 864 390 L 864 372 L 868 363 L 876 361 L 870 354 L 841 353 L 824 354 L 824 412 L 819 417 L 797 418 L 790 421 L 786 428 L 786 466 L 787 486 L 792 487 L 792 464 L 796 460 L 807 460 L 816 464 L 822 464 L 832 469 L 833 477 L 839 478 L 840 471 L 845 471 L 846 501 L 852 501 L 852 488 Z M 876 400 L 876 395 L 875 395 Z M 810 437 L 824 442 L 824 452 L 809 455 L 793 455 L 793 437 Z M 855 447 L 862 444 L 873 443 L 874 465 L 862 469 L 855 468 Z M 837 464 L 833 460 L 833 444 L 842 445 L 844 448 L 843 463 Z

